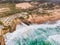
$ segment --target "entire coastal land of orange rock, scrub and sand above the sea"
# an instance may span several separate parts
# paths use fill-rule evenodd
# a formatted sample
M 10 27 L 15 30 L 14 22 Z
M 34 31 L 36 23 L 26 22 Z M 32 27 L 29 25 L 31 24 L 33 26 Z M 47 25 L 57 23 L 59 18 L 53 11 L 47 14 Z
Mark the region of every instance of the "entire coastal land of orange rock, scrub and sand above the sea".
M 14 32 L 16 26 L 21 23 L 30 25 L 49 22 L 53 24 L 55 21 L 60 20 L 59 4 L 24 2 L 10 4 L 10 6 L 9 3 L 6 6 L 3 5 L 0 5 L 0 37 L 2 38 L 6 33 Z

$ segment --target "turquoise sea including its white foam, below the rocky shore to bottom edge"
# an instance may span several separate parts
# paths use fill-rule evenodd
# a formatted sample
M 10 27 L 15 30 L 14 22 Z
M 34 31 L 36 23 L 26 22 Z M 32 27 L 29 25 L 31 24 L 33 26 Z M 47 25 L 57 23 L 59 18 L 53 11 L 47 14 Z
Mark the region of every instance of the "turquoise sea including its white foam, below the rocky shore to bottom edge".
M 6 45 L 60 45 L 60 20 L 55 24 L 17 25 L 5 35 Z

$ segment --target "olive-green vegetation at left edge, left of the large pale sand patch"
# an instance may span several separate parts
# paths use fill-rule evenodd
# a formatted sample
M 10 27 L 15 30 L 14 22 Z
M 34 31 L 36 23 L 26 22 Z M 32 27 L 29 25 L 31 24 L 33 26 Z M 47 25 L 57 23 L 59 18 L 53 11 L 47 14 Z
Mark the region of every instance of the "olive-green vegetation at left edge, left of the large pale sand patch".
M 6 3 L 6 4 L 0 4 L 0 8 L 9 8 L 9 11 L 1 12 L 0 17 L 10 16 L 16 13 L 19 13 L 20 11 L 16 9 L 15 4 Z

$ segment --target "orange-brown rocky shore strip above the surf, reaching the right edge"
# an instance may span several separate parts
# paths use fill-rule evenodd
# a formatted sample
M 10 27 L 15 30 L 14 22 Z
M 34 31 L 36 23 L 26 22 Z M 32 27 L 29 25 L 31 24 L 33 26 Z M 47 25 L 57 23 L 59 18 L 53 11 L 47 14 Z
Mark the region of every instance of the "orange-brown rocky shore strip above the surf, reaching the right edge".
M 28 21 L 31 22 L 31 23 L 37 23 L 37 24 L 41 24 L 41 23 L 44 23 L 44 22 L 53 22 L 53 21 L 56 21 L 56 20 L 59 20 L 60 19 L 60 15 L 44 15 L 44 16 L 37 16 L 37 15 L 33 15 L 33 16 L 29 16 L 29 19 Z

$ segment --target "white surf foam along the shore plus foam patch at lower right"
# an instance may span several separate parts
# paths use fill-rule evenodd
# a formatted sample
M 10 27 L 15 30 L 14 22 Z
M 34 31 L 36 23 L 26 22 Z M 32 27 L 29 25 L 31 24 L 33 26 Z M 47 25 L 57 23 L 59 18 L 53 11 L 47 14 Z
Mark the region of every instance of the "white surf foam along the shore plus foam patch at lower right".
M 22 23 L 23 24 L 23 23 Z M 58 20 L 55 24 L 32 24 L 30 26 L 27 26 L 25 24 L 23 24 L 23 26 L 21 25 L 17 25 L 16 27 L 16 31 L 14 31 L 13 33 L 11 33 L 11 36 L 9 36 L 10 34 L 6 34 L 6 38 L 9 38 L 9 40 L 6 39 L 6 44 L 8 44 L 9 41 L 11 41 L 12 39 L 14 39 L 15 37 L 19 37 L 21 36 L 23 33 L 29 33 L 29 30 L 35 30 L 37 28 L 55 28 L 57 26 L 60 26 L 60 20 Z M 49 36 L 48 39 L 53 39 L 54 41 L 57 41 L 60 43 L 60 35 L 52 35 Z

